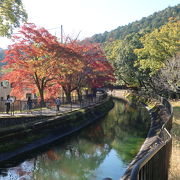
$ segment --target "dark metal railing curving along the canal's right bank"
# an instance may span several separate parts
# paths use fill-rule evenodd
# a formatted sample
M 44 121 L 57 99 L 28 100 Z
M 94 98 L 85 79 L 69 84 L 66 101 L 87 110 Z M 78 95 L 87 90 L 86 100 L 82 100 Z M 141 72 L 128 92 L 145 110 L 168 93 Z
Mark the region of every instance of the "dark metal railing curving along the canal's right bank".
M 171 104 L 164 98 L 162 99 L 162 104 L 168 112 L 169 119 L 161 128 L 156 147 L 135 164 L 131 171 L 131 180 L 168 179 L 172 148 L 172 137 L 168 130 L 170 131 L 172 127 L 173 109 Z

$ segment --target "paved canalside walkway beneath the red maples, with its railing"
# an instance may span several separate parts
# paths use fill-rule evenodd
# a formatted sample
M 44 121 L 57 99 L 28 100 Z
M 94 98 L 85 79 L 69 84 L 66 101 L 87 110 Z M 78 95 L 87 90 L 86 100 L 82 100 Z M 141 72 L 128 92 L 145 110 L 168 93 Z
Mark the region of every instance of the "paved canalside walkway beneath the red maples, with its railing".
M 16 101 L 11 105 L 11 110 L 9 113 L 6 113 L 6 106 L 5 101 L 3 103 L 0 103 L 0 118 L 5 117 L 31 117 L 31 116 L 56 116 L 56 115 L 62 115 L 66 114 L 68 112 L 72 112 L 81 108 L 86 108 L 89 106 L 93 106 L 97 103 L 100 103 L 104 99 L 104 93 L 98 93 L 96 97 L 93 97 L 92 95 L 89 95 L 89 97 L 83 97 L 81 102 L 79 102 L 76 98 L 76 100 L 67 103 L 64 100 L 62 100 L 62 104 L 60 106 L 60 110 L 57 111 L 56 105 L 54 102 L 47 102 L 45 107 L 38 108 L 32 108 L 31 111 L 27 110 L 27 102 L 23 101 Z

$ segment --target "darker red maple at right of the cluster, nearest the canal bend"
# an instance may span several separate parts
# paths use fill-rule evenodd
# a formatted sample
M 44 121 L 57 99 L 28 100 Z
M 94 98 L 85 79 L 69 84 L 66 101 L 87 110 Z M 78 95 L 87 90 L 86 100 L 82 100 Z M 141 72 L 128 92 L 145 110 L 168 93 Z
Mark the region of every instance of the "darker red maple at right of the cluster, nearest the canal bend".
M 80 44 L 78 41 L 72 41 L 67 43 L 66 47 L 80 54 L 78 58 L 64 59 L 64 64 L 58 63 L 57 59 L 57 84 L 63 88 L 68 101 L 74 90 L 80 98 L 83 87 L 102 87 L 115 81 L 113 68 L 97 44 Z

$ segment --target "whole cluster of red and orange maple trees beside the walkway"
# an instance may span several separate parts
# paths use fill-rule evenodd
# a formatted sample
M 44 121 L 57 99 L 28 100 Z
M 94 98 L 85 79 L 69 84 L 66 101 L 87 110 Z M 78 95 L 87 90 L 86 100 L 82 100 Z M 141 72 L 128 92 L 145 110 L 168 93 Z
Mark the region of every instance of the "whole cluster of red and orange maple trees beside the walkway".
M 6 51 L 7 73 L 3 79 L 13 85 L 11 95 L 36 93 L 44 102 L 50 93 L 66 96 L 83 87 L 100 87 L 115 80 L 113 69 L 98 45 L 77 41 L 60 43 L 44 28 L 25 24 Z

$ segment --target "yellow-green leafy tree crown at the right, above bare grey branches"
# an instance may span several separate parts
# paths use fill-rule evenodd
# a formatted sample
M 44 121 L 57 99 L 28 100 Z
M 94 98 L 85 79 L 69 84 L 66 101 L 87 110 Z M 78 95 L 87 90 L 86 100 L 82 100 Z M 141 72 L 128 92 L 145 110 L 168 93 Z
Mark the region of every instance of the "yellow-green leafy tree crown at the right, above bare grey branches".
M 180 21 L 170 21 L 161 29 L 141 38 L 144 47 L 136 49 L 138 65 L 141 69 L 149 69 L 150 74 L 156 73 L 165 65 L 165 61 L 172 58 L 179 51 Z

